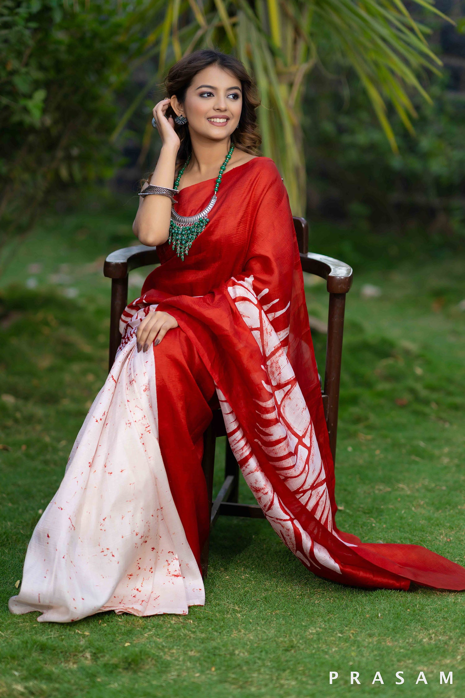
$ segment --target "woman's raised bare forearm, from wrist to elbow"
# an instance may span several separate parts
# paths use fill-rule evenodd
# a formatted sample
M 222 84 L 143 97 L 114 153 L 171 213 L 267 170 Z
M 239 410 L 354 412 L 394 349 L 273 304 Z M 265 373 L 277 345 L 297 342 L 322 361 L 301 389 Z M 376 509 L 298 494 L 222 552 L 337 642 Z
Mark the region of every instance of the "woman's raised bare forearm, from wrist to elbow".
M 173 188 L 178 149 L 171 144 L 162 146 L 155 172 L 150 183 L 146 182 L 142 191 L 148 184 Z M 169 223 L 171 221 L 171 199 L 167 196 L 151 194 L 139 196 L 139 208 L 132 223 L 132 232 L 144 245 L 156 246 L 166 242 L 169 235 Z

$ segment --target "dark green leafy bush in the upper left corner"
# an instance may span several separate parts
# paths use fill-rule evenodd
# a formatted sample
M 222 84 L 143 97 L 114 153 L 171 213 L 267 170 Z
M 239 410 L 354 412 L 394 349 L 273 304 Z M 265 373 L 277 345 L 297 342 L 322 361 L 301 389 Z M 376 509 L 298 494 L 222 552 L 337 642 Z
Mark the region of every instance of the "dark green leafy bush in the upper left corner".
M 127 28 L 132 11 L 105 0 L 82 12 L 63 0 L 1 3 L 0 248 L 47 195 L 107 179 L 121 163 L 109 135 L 114 87 L 142 41 Z

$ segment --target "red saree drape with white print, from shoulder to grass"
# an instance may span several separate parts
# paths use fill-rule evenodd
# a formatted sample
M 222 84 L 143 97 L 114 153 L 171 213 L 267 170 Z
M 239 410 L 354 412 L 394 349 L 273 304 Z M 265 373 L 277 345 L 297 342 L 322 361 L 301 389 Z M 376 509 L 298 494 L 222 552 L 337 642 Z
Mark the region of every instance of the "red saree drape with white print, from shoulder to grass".
M 203 209 L 214 181 L 183 188 L 178 213 Z M 303 274 L 289 198 L 275 163 L 254 158 L 225 172 L 209 218 L 183 262 L 168 244 L 160 246 L 162 263 L 123 313 L 121 329 L 135 313 L 155 306 L 176 318 L 213 378 L 247 484 L 271 526 L 311 572 L 360 587 L 407 589 L 414 581 L 464 590 L 464 567 L 425 547 L 363 543 L 337 528 L 334 464 Z M 153 347 L 157 372 L 166 337 Z M 158 413 L 161 445 L 170 424 L 160 399 Z M 192 481 L 183 485 L 176 478 L 176 444 L 170 443 L 172 465 L 165 456 L 164 461 L 174 501 L 181 502 L 189 498 L 183 487 L 190 487 L 192 496 Z M 204 501 L 204 493 L 201 497 Z M 197 540 L 191 547 L 198 559 L 204 519 L 179 504 L 178 510 L 188 540 Z

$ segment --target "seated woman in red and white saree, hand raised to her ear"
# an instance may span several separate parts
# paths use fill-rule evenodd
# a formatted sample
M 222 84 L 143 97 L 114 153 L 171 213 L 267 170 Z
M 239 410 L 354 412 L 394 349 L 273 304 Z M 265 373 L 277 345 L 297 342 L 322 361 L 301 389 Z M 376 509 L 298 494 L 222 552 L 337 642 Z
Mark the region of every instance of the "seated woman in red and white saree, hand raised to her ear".
M 161 265 L 121 317 L 114 366 L 10 611 L 68 622 L 204 604 L 202 435 L 218 402 L 247 484 L 308 570 L 366 588 L 464 590 L 464 568 L 422 546 L 363 544 L 337 528 L 294 224 L 275 163 L 257 156 L 254 86 L 215 50 L 178 61 L 165 85 L 171 97 L 153 110 L 160 158 L 133 225 Z

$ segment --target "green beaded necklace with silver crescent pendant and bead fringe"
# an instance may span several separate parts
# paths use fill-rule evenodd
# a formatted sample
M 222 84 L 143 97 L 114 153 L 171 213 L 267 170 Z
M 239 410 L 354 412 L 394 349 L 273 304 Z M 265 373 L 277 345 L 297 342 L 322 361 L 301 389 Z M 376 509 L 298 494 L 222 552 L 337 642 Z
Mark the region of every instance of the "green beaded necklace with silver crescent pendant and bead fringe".
M 218 177 L 216 178 L 215 192 L 213 193 L 213 197 L 211 198 L 210 203 L 208 204 L 206 209 L 200 211 L 199 214 L 195 214 L 195 216 L 180 216 L 174 210 L 174 206 L 171 205 L 171 223 L 169 223 L 168 242 L 173 248 L 173 250 L 176 252 L 176 255 L 178 255 L 178 257 L 181 257 L 181 261 L 184 261 L 184 256 L 188 254 L 192 242 L 194 242 L 197 235 L 200 235 L 202 230 L 205 229 L 206 224 L 210 221 L 210 219 L 206 216 L 208 216 L 211 209 L 213 209 L 213 206 L 215 205 L 216 193 L 218 191 L 218 188 L 220 187 L 220 182 L 224 172 L 224 168 L 226 168 L 226 165 L 229 162 L 233 151 L 234 145 L 231 145 L 229 152 L 224 160 L 224 163 L 220 167 L 220 172 L 218 173 Z M 181 170 L 179 170 L 178 177 L 176 177 L 176 181 L 174 182 L 174 189 L 178 188 L 178 184 L 181 179 L 181 174 L 183 174 L 186 166 L 189 164 L 191 155 L 192 151 L 190 152 L 189 157 L 185 161 Z

